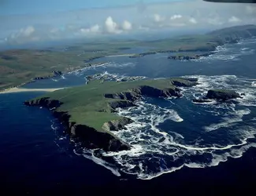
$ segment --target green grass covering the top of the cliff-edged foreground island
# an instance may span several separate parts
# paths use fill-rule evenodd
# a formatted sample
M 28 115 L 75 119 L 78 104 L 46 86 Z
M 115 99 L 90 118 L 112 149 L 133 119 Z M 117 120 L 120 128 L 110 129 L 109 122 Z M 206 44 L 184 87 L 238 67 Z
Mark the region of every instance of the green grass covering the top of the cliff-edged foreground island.
M 102 131 L 102 125 L 105 122 L 121 118 L 117 114 L 110 112 L 108 103 L 115 100 L 106 99 L 104 94 L 128 92 L 142 85 L 149 85 L 157 89 L 175 88 L 168 79 L 133 82 L 92 81 L 88 85 L 46 93 L 43 97 L 61 101 L 63 104 L 58 107 L 58 111 L 68 111 L 71 116 L 71 122 L 88 125 L 98 131 Z M 106 112 L 102 112 L 102 109 L 105 109 Z

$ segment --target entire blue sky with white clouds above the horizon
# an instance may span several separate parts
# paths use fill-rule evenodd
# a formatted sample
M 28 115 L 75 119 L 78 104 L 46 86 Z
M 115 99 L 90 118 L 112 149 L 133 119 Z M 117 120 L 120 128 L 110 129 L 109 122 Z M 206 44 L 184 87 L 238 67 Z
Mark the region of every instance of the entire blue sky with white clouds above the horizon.
M 0 0 L 0 45 L 256 24 L 256 6 L 202 0 Z

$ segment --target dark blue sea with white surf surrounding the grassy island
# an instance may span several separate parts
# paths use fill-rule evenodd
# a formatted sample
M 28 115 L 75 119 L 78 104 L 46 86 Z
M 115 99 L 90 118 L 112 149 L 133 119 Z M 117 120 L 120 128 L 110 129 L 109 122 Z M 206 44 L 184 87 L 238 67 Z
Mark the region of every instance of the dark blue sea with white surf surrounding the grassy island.
M 139 100 L 118 114 L 134 123 L 114 132 L 131 151 L 101 152 L 71 140 L 44 108 L 24 100 L 43 93 L 0 94 L 0 174 L 8 194 L 223 194 L 248 191 L 256 181 L 256 40 L 218 47 L 194 61 L 168 60 L 166 53 L 130 59 L 111 56 L 98 67 L 73 71 L 24 88 L 83 85 L 89 74 L 113 80 L 129 76 L 198 78 L 181 99 Z M 138 50 L 138 51 L 136 51 Z M 143 48 L 127 53 L 143 52 Z M 192 103 L 208 89 L 234 89 L 243 99 Z M 114 160 L 108 162 L 107 160 Z M 122 191 L 122 192 L 120 192 Z

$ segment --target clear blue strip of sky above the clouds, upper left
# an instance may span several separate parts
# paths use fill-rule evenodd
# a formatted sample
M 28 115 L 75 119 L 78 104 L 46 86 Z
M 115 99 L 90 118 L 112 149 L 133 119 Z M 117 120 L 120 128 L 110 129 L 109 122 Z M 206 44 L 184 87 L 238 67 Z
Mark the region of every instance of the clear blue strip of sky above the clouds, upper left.
M 0 15 L 43 14 L 75 9 L 110 8 L 139 3 L 176 2 L 181 0 L 0 0 Z M 20 3 L 21 2 L 21 3 Z

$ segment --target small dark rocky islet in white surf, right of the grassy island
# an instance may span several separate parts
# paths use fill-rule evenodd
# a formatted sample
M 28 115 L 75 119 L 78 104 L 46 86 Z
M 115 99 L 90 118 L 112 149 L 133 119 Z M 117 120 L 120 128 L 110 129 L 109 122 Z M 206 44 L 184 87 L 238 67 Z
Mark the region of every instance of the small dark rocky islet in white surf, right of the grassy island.
M 236 93 L 233 90 L 221 90 L 221 89 L 209 90 L 206 97 L 208 99 L 214 99 L 214 100 L 230 100 L 230 99 L 242 98 L 239 95 L 239 93 Z

